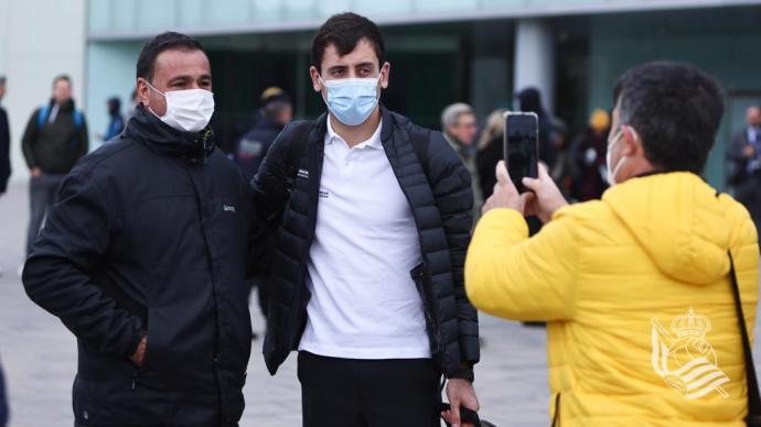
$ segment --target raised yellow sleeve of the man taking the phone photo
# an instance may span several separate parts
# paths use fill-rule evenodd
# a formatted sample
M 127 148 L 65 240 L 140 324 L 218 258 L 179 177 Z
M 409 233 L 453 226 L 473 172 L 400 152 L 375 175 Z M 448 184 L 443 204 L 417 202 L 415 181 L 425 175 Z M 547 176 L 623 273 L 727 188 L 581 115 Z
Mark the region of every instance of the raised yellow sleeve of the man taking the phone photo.
M 513 209 L 481 218 L 465 259 L 471 303 L 514 320 L 562 320 L 572 315 L 578 270 L 575 221 L 556 214 L 539 233 Z

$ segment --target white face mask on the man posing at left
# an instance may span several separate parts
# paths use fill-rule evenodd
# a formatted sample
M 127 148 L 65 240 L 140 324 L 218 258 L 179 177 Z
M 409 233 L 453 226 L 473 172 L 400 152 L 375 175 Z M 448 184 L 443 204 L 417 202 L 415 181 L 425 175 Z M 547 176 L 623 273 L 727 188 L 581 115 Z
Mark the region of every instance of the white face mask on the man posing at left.
M 214 94 L 205 89 L 171 90 L 162 92 L 146 81 L 167 100 L 167 113 L 157 114 L 162 122 L 183 132 L 201 132 L 214 114 Z

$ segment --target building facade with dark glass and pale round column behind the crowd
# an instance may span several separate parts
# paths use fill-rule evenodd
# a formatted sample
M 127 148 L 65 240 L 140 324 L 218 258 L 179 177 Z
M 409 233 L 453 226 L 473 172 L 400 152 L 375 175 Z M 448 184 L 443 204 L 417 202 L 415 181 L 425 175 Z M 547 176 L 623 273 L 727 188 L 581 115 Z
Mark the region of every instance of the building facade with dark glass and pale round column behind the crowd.
M 429 127 L 439 125 L 448 103 L 470 102 L 484 119 L 535 86 L 550 111 L 579 130 L 591 110 L 612 108 L 625 69 L 686 61 L 727 90 L 706 171 L 721 188 L 731 132 L 748 105 L 761 103 L 761 0 L 89 0 L 82 74 L 93 145 L 107 125 L 106 99 L 117 95 L 128 105 L 138 53 L 165 30 L 195 35 L 208 51 L 223 146 L 246 130 L 269 86 L 291 94 L 297 117 L 315 117 L 324 106 L 308 76 L 311 36 L 349 10 L 373 19 L 386 37 L 392 78 L 383 101 Z

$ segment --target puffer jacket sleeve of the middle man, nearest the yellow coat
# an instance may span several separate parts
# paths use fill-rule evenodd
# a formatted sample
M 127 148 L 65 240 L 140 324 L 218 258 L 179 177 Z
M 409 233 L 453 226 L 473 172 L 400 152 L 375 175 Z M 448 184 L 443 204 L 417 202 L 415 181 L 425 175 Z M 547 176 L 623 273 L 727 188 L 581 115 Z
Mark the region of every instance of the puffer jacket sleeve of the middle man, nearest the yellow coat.
M 460 357 L 472 365 L 480 359 L 479 315 L 465 295 L 464 264 L 473 227 L 473 190 L 470 172 L 440 132 L 430 133 L 428 174 L 451 254 Z

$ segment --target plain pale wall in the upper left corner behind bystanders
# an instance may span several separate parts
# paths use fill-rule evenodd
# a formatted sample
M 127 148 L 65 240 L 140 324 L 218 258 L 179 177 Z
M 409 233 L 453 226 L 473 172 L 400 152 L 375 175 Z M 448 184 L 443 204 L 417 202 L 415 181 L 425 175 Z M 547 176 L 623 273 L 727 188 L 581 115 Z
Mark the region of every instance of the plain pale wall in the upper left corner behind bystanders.
M 79 108 L 85 81 L 85 0 L 0 1 L 0 74 L 8 77 L 2 105 L 11 125 L 14 182 L 29 173 L 21 155 L 21 135 L 34 108 L 51 96 L 53 78 L 68 74 Z

